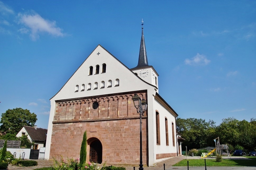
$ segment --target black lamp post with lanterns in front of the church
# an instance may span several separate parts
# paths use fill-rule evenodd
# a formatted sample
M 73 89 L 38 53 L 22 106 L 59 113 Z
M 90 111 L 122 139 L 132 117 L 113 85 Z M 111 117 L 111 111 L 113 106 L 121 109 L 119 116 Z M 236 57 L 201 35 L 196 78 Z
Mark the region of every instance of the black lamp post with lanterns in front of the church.
M 134 94 L 132 99 L 133 99 L 133 104 L 134 104 L 135 108 L 137 109 L 137 113 L 140 113 L 140 168 L 139 168 L 139 170 L 143 170 L 141 124 L 142 124 L 142 116 L 144 115 L 144 112 L 147 110 L 148 104 L 145 101 L 145 99 L 141 100 L 141 98 L 137 94 Z

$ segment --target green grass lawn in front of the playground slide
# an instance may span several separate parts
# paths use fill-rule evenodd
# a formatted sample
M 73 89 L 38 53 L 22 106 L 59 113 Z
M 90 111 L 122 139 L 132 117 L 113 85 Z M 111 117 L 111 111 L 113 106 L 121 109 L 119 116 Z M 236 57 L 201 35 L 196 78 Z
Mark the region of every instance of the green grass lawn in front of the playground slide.
M 256 157 L 250 157 L 245 156 L 247 158 L 250 158 L 251 160 L 230 160 L 230 159 L 222 159 L 221 162 L 216 162 L 215 158 L 213 159 L 206 159 L 206 166 L 208 167 L 250 167 L 250 166 L 256 166 Z M 189 167 L 203 167 L 204 166 L 204 159 L 200 160 L 182 160 L 178 163 L 176 163 L 173 166 L 178 167 L 187 167 L 189 164 Z

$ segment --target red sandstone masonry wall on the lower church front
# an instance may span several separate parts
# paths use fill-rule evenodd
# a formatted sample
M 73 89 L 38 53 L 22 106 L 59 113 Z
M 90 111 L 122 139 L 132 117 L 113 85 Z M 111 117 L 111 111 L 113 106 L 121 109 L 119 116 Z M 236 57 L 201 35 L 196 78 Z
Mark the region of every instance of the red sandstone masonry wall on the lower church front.
M 102 144 L 102 163 L 139 164 L 140 120 L 131 94 L 57 101 L 53 121 L 50 158 L 79 158 L 83 133 L 89 144 L 95 139 Z M 146 92 L 138 93 L 146 98 Z M 97 101 L 99 107 L 92 108 Z M 142 119 L 143 163 L 147 162 L 147 119 Z

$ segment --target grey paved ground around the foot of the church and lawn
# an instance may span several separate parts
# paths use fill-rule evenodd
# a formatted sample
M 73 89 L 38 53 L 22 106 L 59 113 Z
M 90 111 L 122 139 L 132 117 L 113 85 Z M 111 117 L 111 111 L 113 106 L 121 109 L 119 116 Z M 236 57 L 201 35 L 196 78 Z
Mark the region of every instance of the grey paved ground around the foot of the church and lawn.
M 224 159 L 227 159 L 229 157 L 222 157 Z M 232 159 L 248 159 L 245 157 L 231 157 Z M 143 166 L 144 170 L 163 170 L 163 164 L 165 164 L 165 169 L 166 170 L 187 170 L 187 167 L 172 167 L 172 165 L 180 162 L 181 160 L 186 159 L 186 156 L 178 156 L 178 157 L 173 157 L 168 160 L 156 163 L 154 167 L 147 167 Z M 200 159 L 199 156 L 188 156 L 187 159 Z M 206 159 L 213 159 L 213 158 L 206 158 Z M 50 167 L 50 165 L 53 165 L 53 161 L 49 160 L 35 160 L 38 162 L 37 166 L 34 167 L 16 167 L 12 166 L 11 164 L 8 165 L 8 170 L 33 170 L 36 168 L 43 168 L 43 167 Z M 133 170 L 132 166 L 124 166 L 126 170 Z M 139 166 L 135 167 L 136 170 L 139 169 Z M 205 170 L 205 167 L 189 167 L 189 170 Z M 256 170 L 256 167 L 207 167 L 207 170 Z

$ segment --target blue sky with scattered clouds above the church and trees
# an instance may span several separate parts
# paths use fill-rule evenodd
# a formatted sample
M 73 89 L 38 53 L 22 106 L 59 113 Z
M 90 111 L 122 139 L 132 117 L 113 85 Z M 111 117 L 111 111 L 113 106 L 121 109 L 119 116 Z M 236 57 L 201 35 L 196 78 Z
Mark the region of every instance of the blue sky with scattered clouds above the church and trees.
M 180 118 L 256 118 L 256 1 L 0 0 L 0 113 L 47 128 L 52 98 L 101 44 L 137 65 L 141 20 L 159 94 Z

